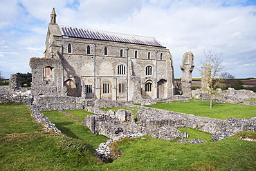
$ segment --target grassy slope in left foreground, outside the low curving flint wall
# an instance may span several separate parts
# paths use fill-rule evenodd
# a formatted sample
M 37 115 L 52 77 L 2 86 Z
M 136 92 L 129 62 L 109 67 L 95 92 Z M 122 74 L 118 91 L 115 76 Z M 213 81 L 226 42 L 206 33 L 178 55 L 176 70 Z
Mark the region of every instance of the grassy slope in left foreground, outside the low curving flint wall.
M 26 105 L 0 104 L 0 170 L 91 170 L 103 163 L 91 145 L 45 133 Z

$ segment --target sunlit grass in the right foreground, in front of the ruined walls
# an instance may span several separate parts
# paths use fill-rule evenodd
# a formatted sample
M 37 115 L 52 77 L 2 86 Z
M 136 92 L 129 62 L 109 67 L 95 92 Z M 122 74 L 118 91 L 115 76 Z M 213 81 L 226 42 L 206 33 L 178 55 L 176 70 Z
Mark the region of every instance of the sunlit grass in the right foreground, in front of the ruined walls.
M 246 133 L 245 133 L 246 134 Z M 254 137 L 255 132 L 252 132 Z M 124 139 L 113 145 L 122 157 L 109 170 L 255 170 L 256 143 L 239 134 L 214 143 L 176 143 L 162 139 Z

